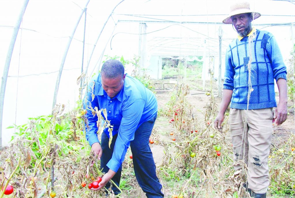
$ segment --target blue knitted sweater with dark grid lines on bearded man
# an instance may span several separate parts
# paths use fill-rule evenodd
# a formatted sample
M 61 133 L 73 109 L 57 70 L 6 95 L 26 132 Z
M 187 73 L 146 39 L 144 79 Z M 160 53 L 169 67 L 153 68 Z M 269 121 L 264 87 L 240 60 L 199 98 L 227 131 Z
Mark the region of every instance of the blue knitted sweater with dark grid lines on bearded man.
M 247 109 L 248 97 L 248 36 L 233 40 L 225 56 L 223 89 L 233 90 L 231 108 Z M 286 79 L 286 66 L 278 44 L 270 32 L 256 30 L 251 44 L 251 83 L 249 109 L 276 107 L 274 79 Z

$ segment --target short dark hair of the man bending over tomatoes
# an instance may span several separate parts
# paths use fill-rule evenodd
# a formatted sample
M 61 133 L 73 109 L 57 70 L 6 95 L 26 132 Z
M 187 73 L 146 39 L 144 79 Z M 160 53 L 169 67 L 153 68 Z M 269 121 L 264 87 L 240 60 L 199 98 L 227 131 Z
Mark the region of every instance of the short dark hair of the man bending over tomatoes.
M 118 76 L 124 76 L 124 66 L 119 60 L 106 60 L 101 67 L 101 74 L 105 78 L 117 78 Z

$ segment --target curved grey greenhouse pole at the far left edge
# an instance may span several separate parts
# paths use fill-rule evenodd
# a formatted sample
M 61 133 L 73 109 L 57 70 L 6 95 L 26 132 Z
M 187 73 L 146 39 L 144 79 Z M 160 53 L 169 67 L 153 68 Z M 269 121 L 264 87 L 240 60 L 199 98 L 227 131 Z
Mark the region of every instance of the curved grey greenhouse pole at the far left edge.
M 5 89 L 6 89 L 6 82 L 7 82 L 7 76 L 10 66 L 10 61 L 12 57 L 12 52 L 14 49 L 14 44 L 17 39 L 17 34 L 19 32 L 20 24 L 22 23 L 22 18 L 24 16 L 24 12 L 26 11 L 27 5 L 29 3 L 29 0 L 24 0 L 24 4 L 22 6 L 22 10 L 19 13 L 19 17 L 17 19 L 17 22 L 14 26 L 12 38 L 10 40 L 9 48 L 7 51 L 6 61 L 4 65 L 4 71 L 1 81 L 1 91 L 0 91 L 0 149 L 2 147 L 2 120 L 3 120 L 3 107 L 4 107 L 4 96 L 5 96 Z

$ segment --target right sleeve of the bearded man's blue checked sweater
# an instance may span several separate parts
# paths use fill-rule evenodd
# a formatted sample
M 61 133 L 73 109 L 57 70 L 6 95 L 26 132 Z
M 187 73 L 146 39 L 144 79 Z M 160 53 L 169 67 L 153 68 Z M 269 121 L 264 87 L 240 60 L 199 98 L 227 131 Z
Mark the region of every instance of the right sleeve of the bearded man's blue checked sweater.
M 283 57 L 278 47 L 278 43 L 274 36 L 270 37 L 267 43 L 267 55 L 271 60 L 271 67 L 273 69 L 273 78 L 278 81 L 279 78 L 284 78 L 287 80 L 287 68 L 283 61 Z

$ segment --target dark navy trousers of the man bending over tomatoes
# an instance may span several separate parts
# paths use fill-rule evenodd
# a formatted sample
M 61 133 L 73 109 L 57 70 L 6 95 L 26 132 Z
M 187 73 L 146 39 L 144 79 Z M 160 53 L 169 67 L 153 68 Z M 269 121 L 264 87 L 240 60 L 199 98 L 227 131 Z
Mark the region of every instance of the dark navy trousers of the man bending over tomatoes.
M 156 165 L 153 158 L 153 153 L 150 150 L 149 138 L 152 133 L 156 118 L 142 123 L 140 127 L 135 131 L 134 140 L 130 142 L 130 148 L 132 152 L 133 167 L 138 184 L 145 192 L 148 198 L 164 197 L 161 192 L 162 185 L 156 175 Z M 109 168 L 106 164 L 112 158 L 114 145 L 117 139 L 117 135 L 113 136 L 111 149 L 109 149 L 109 138 L 105 133 L 101 135 L 101 168 L 103 172 L 108 172 Z M 122 165 L 112 180 L 119 186 L 121 178 Z M 110 187 L 110 183 L 106 184 L 106 188 Z M 120 191 L 113 186 L 112 190 L 115 194 L 119 194 Z

